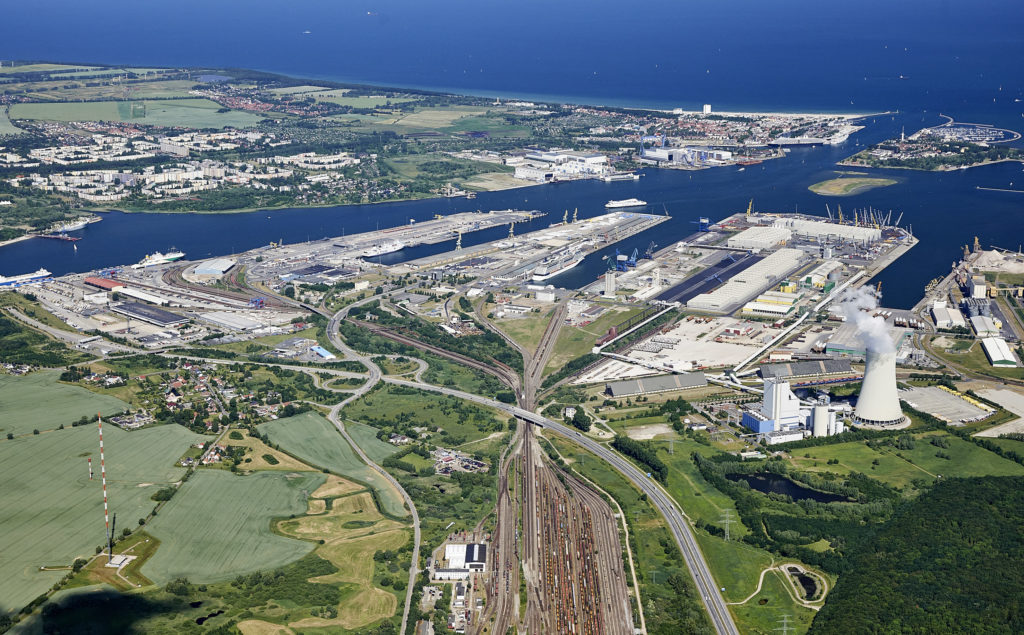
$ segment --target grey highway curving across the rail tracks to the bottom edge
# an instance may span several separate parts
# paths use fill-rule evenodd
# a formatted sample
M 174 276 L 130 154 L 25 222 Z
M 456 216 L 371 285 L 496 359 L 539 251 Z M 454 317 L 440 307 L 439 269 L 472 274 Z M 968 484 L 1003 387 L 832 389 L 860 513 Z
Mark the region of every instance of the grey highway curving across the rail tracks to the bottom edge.
M 725 600 L 722 598 L 722 594 L 719 591 L 718 586 L 715 584 L 715 579 L 711 574 L 711 569 L 708 567 L 708 562 L 705 560 L 703 554 L 697 546 L 696 539 L 693 538 L 693 532 L 690 530 L 690 525 L 683 516 L 682 511 L 680 511 L 675 501 L 673 501 L 672 498 L 666 494 L 660 485 L 658 485 L 652 478 L 641 472 L 631 462 L 609 448 L 606 448 L 594 439 L 581 434 L 577 430 L 551 421 L 550 419 L 542 417 L 537 413 L 531 413 L 515 406 L 510 406 L 484 396 L 452 388 L 445 388 L 442 386 L 393 379 L 390 377 L 384 378 L 384 381 L 396 385 L 420 388 L 422 390 L 432 390 L 434 392 L 440 392 L 442 394 L 475 401 L 482 406 L 497 408 L 505 413 L 508 413 L 509 415 L 549 429 L 557 434 L 565 436 L 566 438 L 570 438 L 591 453 L 597 455 L 597 457 L 601 460 L 611 465 L 611 467 L 615 468 L 616 471 L 626 476 L 637 488 L 639 488 L 641 492 L 646 494 L 648 500 L 650 500 L 650 502 L 653 503 L 653 505 L 657 507 L 657 509 L 665 516 L 669 523 L 669 528 L 679 546 L 679 550 L 683 554 L 683 559 L 686 560 L 686 565 L 690 570 L 690 575 L 696 583 L 697 591 L 700 594 L 701 601 L 705 603 L 705 607 L 708 610 L 708 615 L 711 618 L 712 625 L 715 627 L 715 630 L 722 635 L 738 635 L 739 631 L 736 629 L 736 625 L 732 620 L 732 615 L 725 605 Z

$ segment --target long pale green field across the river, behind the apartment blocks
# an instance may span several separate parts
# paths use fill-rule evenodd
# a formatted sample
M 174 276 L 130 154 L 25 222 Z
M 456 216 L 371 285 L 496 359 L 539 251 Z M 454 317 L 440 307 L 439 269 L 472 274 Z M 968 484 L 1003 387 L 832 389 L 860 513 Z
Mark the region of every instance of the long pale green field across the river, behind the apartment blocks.
M 242 128 L 263 118 L 251 113 L 218 113 L 220 104 L 209 99 L 168 99 L 155 101 L 87 101 L 57 103 L 15 103 L 11 119 L 45 121 L 121 121 L 150 126 L 186 128 Z

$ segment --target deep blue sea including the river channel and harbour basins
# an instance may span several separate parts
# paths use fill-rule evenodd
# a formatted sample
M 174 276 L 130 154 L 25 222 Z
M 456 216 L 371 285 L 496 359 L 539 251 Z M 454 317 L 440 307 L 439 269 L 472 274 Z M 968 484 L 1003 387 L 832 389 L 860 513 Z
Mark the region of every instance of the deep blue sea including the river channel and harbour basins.
M 438 199 L 245 214 L 111 212 L 74 249 L 31 240 L 0 248 L 0 273 L 45 267 L 61 274 L 129 264 L 176 247 L 189 259 L 237 253 L 270 241 L 300 242 L 424 220 L 434 214 L 536 209 L 561 219 L 603 213 L 636 197 L 672 219 L 620 249 L 643 252 L 691 234 L 700 216 L 742 211 L 825 213 L 873 207 L 903 214 L 921 243 L 878 280 L 883 302 L 908 307 L 948 271 L 965 244 L 1017 250 L 1024 243 L 1021 164 L 925 173 L 870 170 L 895 185 L 854 197 L 807 189 L 836 163 L 879 140 L 957 121 L 1024 130 L 1024 5 L 867 0 L 711 3 L 608 0 L 483 2 L 267 0 L 14 3 L 0 20 L 0 60 L 61 60 L 138 67 L 252 68 L 335 81 L 502 98 L 650 109 L 879 114 L 842 145 L 798 147 L 784 158 L 697 172 L 644 170 L 636 182 L 578 181 Z M 527 230 L 529 227 L 521 227 Z M 495 240 L 504 228 L 467 235 Z M 401 261 L 452 248 L 390 254 Z M 603 268 L 597 253 L 553 284 L 581 286 Z

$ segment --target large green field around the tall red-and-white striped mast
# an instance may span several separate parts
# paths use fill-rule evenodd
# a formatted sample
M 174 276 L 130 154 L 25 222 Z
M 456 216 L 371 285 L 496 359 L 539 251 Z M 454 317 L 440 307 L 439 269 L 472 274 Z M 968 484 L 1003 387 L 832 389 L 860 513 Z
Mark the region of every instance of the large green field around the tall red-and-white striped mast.
M 121 527 L 156 505 L 150 497 L 184 474 L 173 467 L 189 443 L 201 437 L 176 425 L 125 432 L 103 430 L 110 508 Z M 89 480 L 86 459 L 92 459 Z M 68 565 L 89 557 L 103 543 L 103 495 L 96 426 L 82 426 L 0 441 L 0 611 L 18 609 L 59 580 Z

